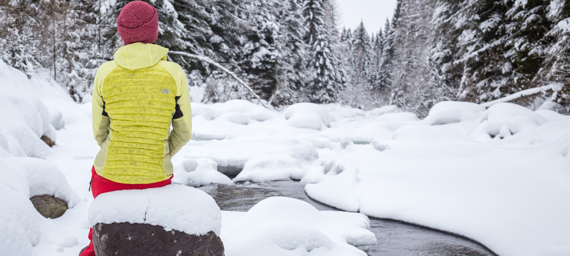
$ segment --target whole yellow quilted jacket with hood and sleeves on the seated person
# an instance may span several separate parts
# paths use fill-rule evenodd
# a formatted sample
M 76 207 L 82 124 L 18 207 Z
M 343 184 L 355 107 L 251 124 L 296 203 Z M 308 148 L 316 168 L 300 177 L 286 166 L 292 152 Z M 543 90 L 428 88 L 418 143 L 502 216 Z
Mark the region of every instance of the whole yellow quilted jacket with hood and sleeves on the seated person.
M 93 133 L 101 147 L 97 174 L 125 184 L 172 176 L 170 158 L 190 140 L 192 110 L 186 74 L 166 61 L 166 53 L 156 44 L 128 44 L 97 70 L 92 99 Z

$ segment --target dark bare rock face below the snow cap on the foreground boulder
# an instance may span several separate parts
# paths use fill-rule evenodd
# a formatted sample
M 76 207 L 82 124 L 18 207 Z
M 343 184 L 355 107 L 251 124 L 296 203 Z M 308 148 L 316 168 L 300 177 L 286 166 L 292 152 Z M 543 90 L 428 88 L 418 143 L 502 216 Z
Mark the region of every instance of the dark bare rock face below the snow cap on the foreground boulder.
M 202 236 L 140 223 L 95 224 L 97 256 L 224 256 L 222 240 L 210 231 Z

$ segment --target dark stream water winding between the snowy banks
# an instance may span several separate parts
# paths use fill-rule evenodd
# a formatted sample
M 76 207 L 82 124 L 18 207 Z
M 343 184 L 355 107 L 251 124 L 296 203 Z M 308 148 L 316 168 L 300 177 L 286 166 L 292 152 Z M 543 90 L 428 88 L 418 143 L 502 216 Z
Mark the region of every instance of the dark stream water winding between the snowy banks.
M 338 210 L 312 200 L 303 185 L 292 180 L 233 185 L 210 184 L 200 187 L 222 210 L 247 211 L 271 196 L 287 196 L 306 201 L 319 210 Z M 370 231 L 378 243 L 367 251 L 370 256 L 487 256 L 492 253 L 480 243 L 434 229 L 401 221 L 370 217 Z

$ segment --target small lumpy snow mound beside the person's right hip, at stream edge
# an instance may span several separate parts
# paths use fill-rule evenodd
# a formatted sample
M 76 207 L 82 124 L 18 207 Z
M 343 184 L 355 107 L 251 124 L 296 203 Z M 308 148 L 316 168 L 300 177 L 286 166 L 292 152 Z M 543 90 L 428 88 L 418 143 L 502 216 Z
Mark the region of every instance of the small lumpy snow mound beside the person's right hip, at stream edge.
M 210 183 L 233 184 L 229 177 L 218 172 L 218 163 L 209 158 L 184 160 L 182 166 L 174 170 L 173 182 L 191 187 Z

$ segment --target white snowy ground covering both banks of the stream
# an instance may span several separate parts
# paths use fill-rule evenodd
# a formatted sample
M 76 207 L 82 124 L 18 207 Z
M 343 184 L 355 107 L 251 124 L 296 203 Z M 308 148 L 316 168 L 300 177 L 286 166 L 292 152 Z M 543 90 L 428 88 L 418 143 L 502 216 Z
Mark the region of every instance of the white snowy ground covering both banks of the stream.
M 10 92 L 0 96 L 0 156 L 7 157 L 0 158 L 0 247 L 21 245 L 8 255 L 76 255 L 87 242 L 88 181 L 99 150 L 91 106 L 3 63 L 0 73 L 12 78 L 0 83 Z M 461 234 L 499 255 L 570 255 L 569 116 L 465 102 L 441 102 L 423 120 L 394 106 L 192 108 L 193 140 L 173 158 L 175 183 L 300 179 L 308 195 L 333 207 Z M 57 145 L 45 147 L 42 135 Z M 53 175 L 41 183 L 43 172 Z M 40 193 L 59 193 L 73 208 L 43 219 L 26 203 Z M 276 211 L 282 205 L 295 210 Z M 228 256 L 365 255 L 355 246 L 373 242 L 361 214 L 281 197 L 222 217 Z

